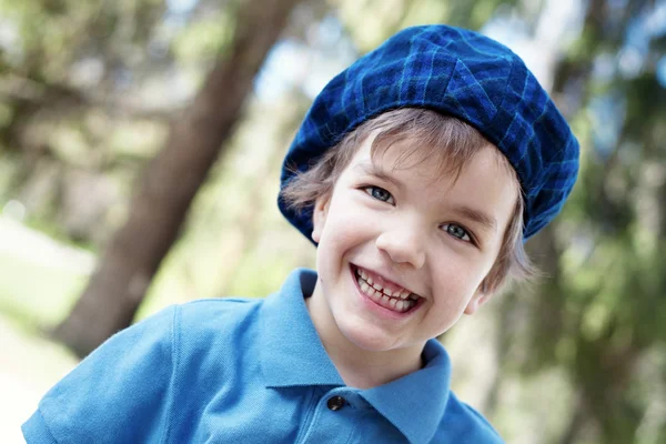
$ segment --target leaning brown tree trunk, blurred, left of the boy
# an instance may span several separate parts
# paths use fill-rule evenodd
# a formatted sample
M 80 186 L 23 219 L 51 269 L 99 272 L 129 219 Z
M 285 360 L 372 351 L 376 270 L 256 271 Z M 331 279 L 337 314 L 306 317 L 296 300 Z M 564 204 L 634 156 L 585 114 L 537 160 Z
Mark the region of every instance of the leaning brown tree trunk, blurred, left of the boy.
M 148 165 L 124 226 L 71 314 L 53 331 L 79 356 L 129 326 L 185 213 L 224 148 L 254 75 L 301 0 L 243 1 L 233 42 Z

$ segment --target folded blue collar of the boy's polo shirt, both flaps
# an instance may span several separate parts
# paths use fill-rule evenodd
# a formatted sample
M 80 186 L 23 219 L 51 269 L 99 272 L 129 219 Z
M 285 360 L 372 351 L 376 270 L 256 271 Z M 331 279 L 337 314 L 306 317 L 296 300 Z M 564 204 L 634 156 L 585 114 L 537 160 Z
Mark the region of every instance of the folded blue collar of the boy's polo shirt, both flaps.
M 315 283 L 314 271 L 295 270 L 280 291 L 264 301 L 260 353 L 266 386 L 345 385 L 305 306 L 304 294 L 312 294 Z M 418 372 L 359 391 L 412 443 L 432 440 L 450 396 L 451 361 L 442 344 L 428 341 L 423 357 L 425 366 Z

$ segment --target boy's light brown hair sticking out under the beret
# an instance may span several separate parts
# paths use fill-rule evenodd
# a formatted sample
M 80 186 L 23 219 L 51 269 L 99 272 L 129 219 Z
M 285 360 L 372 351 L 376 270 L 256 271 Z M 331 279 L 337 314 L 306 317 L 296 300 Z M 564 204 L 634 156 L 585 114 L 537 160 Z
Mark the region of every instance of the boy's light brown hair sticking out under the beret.
M 474 127 L 454 117 L 426 109 L 396 109 L 365 121 L 327 150 L 307 171 L 295 172 L 295 178 L 281 191 L 281 199 L 289 208 L 303 211 L 311 208 L 319 196 L 330 195 L 359 147 L 371 134 L 375 134 L 371 147 L 373 158 L 383 155 L 394 143 L 410 140 L 413 143 L 405 144 L 395 168 L 435 162 L 441 175 L 453 174 L 455 178 L 476 152 L 494 147 Z M 519 181 L 508 160 L 500 151 L 497 154 L 518 185 L 518 196 L 497 259 L 482 283 L 482 291 L 490 293 L 498 291 L 509 280 L 526 280 L 534 274 L 523 248 L 525 203 Z

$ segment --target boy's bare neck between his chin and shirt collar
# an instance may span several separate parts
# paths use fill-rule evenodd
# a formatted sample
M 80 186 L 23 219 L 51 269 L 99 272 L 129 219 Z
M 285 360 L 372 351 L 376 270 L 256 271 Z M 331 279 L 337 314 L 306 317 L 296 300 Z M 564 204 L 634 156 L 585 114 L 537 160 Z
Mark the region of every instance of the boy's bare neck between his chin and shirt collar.
M 423 367 L 423 345 L 382 352 L 363 350 L 340 332 L 330 312 L 319 310 L 319 304 L 326 304 L 326 301 L 316 291 L 305 299 L 324 349 L 347 386 L 372 389 Z

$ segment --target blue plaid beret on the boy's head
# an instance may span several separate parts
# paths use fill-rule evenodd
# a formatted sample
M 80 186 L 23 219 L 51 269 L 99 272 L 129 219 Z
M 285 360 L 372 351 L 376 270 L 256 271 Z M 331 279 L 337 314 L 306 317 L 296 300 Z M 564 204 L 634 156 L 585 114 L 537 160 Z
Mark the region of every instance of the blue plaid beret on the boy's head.
M 331 80 L 286 153 L 281 186 L 361 123 L 406 107 L 464 120 L 506 155 L 525 196 L 524 239 L 559 212 L 578 173 L 578 142 L 568 124 L 518 56 L 447 26 L 405 29 Z M 278 204 L 310 239 L 312 209 L 294 211 L 280 198 Z

